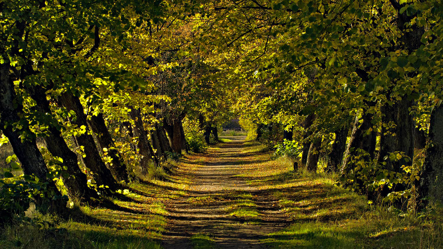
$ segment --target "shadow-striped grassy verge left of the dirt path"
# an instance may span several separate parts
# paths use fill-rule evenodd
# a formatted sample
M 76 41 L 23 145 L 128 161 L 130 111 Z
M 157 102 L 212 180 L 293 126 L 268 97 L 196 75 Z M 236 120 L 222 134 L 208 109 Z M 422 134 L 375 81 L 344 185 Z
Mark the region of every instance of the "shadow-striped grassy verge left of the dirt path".
M 127 186 L 125 195 L 105 198 L 100 207 L 76 207 L 69 220 L 39 215 L 0 230 L 4 249 L 160 249 L 167 231 L 163 203 L 187 195 L 187 181 L 173 176 Z

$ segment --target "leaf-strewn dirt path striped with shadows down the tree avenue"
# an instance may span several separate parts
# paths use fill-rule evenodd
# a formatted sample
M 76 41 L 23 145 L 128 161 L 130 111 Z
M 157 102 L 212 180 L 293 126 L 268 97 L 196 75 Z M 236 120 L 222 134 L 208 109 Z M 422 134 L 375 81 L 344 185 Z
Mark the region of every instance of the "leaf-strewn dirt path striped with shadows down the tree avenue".
M 241 140 L 210 148 L 198 159 L 191 156 L 190 163 L 198 164 L 194 170 L 179 168 L 193 183 L 189 195 L 167 203 L 170 229 L 163 237 L 165 249 L 192 248 L 190 238 L 198 233 L 209 234 L 217 248 L 265 248 L 260 240 L 286 224 L 272 195 L 236 176 L 242 165 L 254 163 L 253 157 L 241 153 L 244 137 L 237 139 Z M 245 220 L 229 213 L 229 205 L 235 207 L 239 196 L 249 196 L 257 218 Z

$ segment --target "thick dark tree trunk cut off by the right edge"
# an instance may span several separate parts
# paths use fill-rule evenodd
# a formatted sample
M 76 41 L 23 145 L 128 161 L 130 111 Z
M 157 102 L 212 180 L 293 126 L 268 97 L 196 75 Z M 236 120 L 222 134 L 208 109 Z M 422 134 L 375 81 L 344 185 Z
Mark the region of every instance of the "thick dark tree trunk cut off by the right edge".
M 426 207 L 425 197 L 443 201 L 443 104 L 435 106 L 429 126 L 430 145 L 426 151 L 423 169 L 418 185 L 417 204 L 419 209 Z

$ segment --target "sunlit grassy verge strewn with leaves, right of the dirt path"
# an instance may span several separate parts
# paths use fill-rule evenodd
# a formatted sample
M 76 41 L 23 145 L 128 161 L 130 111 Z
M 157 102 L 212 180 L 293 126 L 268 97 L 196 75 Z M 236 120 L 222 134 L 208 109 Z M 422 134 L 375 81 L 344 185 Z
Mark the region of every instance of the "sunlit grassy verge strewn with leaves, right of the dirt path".
M 238 176 L 271 193 L 291 224 L 268 234 L 270 248 L 443 248 L 441 209 L 431 218 L 399 214 L 369 205 L 365 196 L 336 186 L 337 176 L 291 170 L 286 158 L 272 160 L 263 146 L 250 142 L 242 153 L 254 154 Z

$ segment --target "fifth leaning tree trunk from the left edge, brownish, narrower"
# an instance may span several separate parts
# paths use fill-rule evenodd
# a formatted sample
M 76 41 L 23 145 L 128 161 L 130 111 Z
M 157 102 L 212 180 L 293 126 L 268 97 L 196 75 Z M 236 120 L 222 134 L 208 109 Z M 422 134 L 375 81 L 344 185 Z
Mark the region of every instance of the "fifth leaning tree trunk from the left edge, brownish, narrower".
M 143 121 L 141 118 L 140 110 L 129 106 L 131 109 L 130 116 L 131 119 L 134 120 L 134 124 L 132 126 L 132 133 L 134 137 L 138 137 L 137 149 L 139 149 L 139 153 L 142 156 L 140 161 L 140 167 L 142 172 L 146 172 L 149 169 L 150 162 L 154 163 L 154 165 L 158 165 L 158 159 L 154 154 L 154 151 L 151 148 L 151 145 L 148 142 L 148 135 L 143 127 Z

